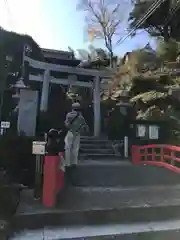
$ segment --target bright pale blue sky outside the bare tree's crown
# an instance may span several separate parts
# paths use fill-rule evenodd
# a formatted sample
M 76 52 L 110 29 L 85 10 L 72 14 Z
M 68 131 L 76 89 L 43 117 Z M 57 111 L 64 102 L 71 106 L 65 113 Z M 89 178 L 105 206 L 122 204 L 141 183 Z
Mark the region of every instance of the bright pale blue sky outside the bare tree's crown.
M 26 33 L 43 48 L 67 50 L 86 48 L 84 13 L 76 10 L 78 0 L 0 0 L 0 26 Z M 115 48 L 118 55 L 143 47 L 146 33 L 127 39 Z M 102 41 L 93 42 L 103 47 Z

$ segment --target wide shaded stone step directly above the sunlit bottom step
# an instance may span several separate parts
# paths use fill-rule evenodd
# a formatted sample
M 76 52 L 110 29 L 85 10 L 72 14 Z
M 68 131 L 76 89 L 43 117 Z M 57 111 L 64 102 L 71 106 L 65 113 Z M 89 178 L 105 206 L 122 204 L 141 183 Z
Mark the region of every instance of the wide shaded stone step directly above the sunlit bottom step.
M 53 226 L 132 224 L 180 219 L 180 185 L 137 188 L 69 188 L 56 208 L 45 208 L 24 190 L 14 232 Z

